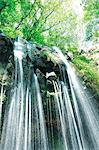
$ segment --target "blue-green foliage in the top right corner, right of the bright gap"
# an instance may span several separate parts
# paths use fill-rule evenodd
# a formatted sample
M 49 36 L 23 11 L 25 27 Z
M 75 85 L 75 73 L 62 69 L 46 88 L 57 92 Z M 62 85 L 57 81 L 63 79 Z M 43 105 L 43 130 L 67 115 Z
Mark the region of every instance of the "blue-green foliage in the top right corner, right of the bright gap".
M 98 41 L 99 30 L 99 1 L 87 0 L 84 8 L 84 22 L 86 25 L 86 40 Z

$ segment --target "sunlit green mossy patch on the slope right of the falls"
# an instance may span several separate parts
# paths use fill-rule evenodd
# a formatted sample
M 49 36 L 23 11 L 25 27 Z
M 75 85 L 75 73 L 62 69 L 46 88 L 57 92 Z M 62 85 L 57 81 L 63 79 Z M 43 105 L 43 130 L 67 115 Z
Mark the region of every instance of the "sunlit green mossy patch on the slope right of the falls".
M 73 63 L 85 84 L 91 87 L 94 92 L 99 93 L 99 70 L 91 63 L 91 60 L 78 55 L 73 59 Z

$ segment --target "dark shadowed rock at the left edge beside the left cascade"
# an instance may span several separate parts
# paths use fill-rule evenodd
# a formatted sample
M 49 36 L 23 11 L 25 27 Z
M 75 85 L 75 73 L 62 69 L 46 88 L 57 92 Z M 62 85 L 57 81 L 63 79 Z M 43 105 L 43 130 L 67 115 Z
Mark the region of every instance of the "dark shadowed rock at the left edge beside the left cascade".
M 0 89 L 1 86 L 4 86 L 5 100 L 8 95 L 8 91 L 10 90 L 11 78 L 12 78 L 12 71 L 14 68 L 14 59 L 13 59 L 13 42 L 11 39 L 0 34 Z

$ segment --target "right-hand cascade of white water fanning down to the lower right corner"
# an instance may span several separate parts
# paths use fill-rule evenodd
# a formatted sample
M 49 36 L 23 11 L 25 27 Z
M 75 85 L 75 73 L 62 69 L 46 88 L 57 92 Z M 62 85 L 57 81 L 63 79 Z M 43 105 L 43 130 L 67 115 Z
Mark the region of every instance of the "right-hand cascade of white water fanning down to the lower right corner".
M 65 57 L 62 54 L 62 52 L 56 47 L 53 47 L 53 48 L 58 53 L 61 60 L 64 62 L 66 66 L 65 72 L 67 72 L 68 79 L 69 79 L 69 90 L 67 88 L 68 86 L 67 86 L 66 81 L 63 81 L 62 83 L 60 83 L 60 85 L 62 86 L 61 93 L 63 93 L 63 98 L 62 96 L 61 97 L 59 96 L 58 98 L 60 99 L 60 101 L 61 99 L 64 100 L 65 111 L 67 112 L 67 114 L 65 114 L 65 116 L 63 116 L 62 118 L 64 119 L 66 115 L 68 116 L 67 122 L 69 123 L 68 128 L 70 130 L 71 144 L 69 141 L 69 144 L 65 146 L 65 149 L 98 150 L 99 149 L 98 113 L 95 111 L 94 105 L 86 96 L 86 93 L 84 92 L 82 85 L 80 84 L 77 76 L 75 75 L 73 68 L 71 68 L 68 61 L 65 60 Z M 64 70 L 62 71 L 64 72 Z M 63 76 L 64 75 L 65 73 L 63 73 Z M 65 79 L 65 76 L 63 78 Z M 54 87 L 55 87 L 56 93 L 60 93 L 59 91 L 61 88 L 57 88 L 56 90 L 56 87 L 58 87 L 57 83 L 56 85 L 54 83 Z M 61 115 L 62 115 L 64 111 L 63 111 L 63 105 L 61 102 L 60 102 L 60 106 L 58 107 L 61 107 Z M 66 126 L 65 126 L 65 129 L 66 129 Z M 68 134 L 66 134 L 65 136 L 66 136 L 66 139 L 68 140 L 69 138 Z M 70 145 L 72 146 L 72 148 L 69 147 Z

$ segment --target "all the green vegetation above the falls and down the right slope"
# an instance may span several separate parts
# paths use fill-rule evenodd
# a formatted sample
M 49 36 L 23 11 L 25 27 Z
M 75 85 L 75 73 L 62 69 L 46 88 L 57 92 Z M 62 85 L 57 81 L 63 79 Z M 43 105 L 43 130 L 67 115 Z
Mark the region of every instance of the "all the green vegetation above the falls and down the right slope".
M 72 52 L 86 84 L 99 91 L 98 0 L 1 0 L 0 30 Z

